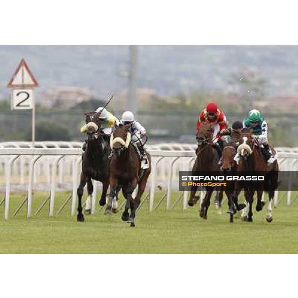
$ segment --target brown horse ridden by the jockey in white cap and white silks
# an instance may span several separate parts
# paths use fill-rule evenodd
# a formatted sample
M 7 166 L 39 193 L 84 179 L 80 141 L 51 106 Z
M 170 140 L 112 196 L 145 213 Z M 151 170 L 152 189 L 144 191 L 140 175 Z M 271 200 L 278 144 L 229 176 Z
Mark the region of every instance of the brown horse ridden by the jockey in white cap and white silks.
M 111 213 L 113 200 L 122 188 L 122 193 L 126 199 L 122 220 L 129 221 L 131 226 L 135 226 L 136 210 L 140 205 L 151 171 L 151 158 L 147 152 L 149 168 L 141 169 L 138 153 L 134 145 L 130 143 L 130 129 L 131 125 L 118 127 L 111 136 L 110 146 L 114 153 L 110 161 L 110 196 L 106 214 Z M 137 185 L 139 186 L 138 193 L 136 198 L 133 199 L 132 194 Z M 131 209 L 130 215 L 129 208 Z

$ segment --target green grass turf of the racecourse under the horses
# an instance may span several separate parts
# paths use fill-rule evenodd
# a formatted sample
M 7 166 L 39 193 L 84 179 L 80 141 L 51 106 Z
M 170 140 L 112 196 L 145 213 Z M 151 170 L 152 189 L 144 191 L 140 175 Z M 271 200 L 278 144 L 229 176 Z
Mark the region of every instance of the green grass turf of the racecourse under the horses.
M 56 211 L 68 195 L 57 195 Z M 35 194 L 33 213 L 46 197 Z M 10 219 L 0 220 L 0 253 L 298 253 L 297 200 L 286 206 L 282 199 L 273 210 L 271 224 L 265 220 L 266 206 L 260 213 L 254 209 L 253 223 L 235 219 L 229 224 L 226 202 L 222 215 L 212 205 L 207 221 L 198 217 L 198 206 L 182 211 L 179 203 L 174 210 L 165 211 L 162 204 L 149 213 L 145 203 L 137 214 L 136 227 L 131 228 L 121 221 L 121 212 L 112 216 L 96 213 L 77 223 L 70 217 L 70 204 L 53 218 L 47 217 L 48 205 L 37 217 L 27 219 L 24 208 L 12 218 L 22 198 L 13 195 Z

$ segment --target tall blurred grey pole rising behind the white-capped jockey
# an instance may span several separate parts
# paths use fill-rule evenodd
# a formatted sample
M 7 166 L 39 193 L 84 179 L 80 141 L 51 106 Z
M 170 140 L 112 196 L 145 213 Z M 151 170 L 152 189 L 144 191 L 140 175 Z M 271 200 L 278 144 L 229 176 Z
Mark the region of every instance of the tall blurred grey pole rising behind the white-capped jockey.
M 138 65 L 138 46 L 130 46 L 130 74 L 129 74 L 129 94 L 128 108 L 134 114 L 138 112 L 137 102 L 137 65 Z

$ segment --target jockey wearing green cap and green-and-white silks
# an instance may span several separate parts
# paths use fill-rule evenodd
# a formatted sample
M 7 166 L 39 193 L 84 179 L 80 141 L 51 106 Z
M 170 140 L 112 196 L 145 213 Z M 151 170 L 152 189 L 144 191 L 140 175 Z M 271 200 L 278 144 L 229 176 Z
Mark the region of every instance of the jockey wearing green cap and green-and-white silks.
M 268 161 L 271 157 L 267 139 L 268 126 L 261 113 L 255 109 L 251 110 L 243 121 L 243 127 L 252 128 L 252 134 L 258 139 L 258 142 L 263 145 L 263 154 L 266 161 Z

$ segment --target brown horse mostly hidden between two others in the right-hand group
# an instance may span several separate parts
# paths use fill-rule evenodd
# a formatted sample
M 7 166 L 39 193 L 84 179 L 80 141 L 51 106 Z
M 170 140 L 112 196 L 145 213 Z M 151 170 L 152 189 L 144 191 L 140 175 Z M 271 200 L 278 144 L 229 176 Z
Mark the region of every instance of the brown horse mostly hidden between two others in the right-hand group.
M 233 175 L 237 169 L 237 163 L 234 160 L 234 157 L 237 153 L 237 150 L 232 146 L 226 146 L 223 149 L 222 153 L 222 166 L 221 170 L 224 172 L 224 175 Z M 226 181 L 227 186 L 224 187 L 224 192 L 228 199 L 228 211 L 227 213 L 230 215 L 230 223 L 233 223 L 233 217 L 236 211 L 240 211 L 246 207 L 245 204 L 238 204 L 238 201 L 235 200 L 233 196 L 233 190 L 235 187 L 235 181 Z M 234 207 L 235 205 L 235 207 Z

